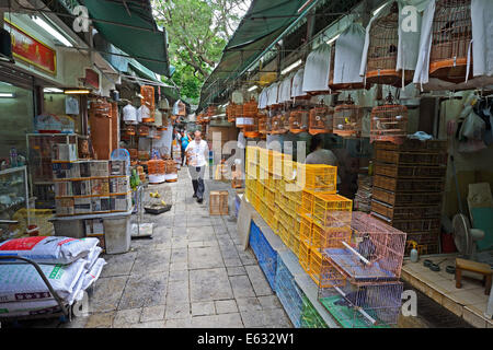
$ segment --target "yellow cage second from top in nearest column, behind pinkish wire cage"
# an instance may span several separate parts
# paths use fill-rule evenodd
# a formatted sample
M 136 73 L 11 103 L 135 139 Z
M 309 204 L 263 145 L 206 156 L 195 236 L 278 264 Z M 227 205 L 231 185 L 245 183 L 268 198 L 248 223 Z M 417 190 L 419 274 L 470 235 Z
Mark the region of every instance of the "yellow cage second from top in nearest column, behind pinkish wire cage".
M 352 240 L 351 225 L 340 228 L 320 226 L 313 223 L 310 235 L 310 247 L 312 249 L 343 248 L 342 242 L 349 243 Z

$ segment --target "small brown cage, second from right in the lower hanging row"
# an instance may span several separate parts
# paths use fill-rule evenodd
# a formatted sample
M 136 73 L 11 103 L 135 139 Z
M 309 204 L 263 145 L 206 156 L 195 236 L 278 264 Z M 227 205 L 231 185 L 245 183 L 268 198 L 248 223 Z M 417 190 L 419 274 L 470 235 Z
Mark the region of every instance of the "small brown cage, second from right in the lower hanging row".
M 341 137 L 358 137 L 362 133 L 363 109 L 354 104 L 351 95 L 334 109 L 333 133 Z

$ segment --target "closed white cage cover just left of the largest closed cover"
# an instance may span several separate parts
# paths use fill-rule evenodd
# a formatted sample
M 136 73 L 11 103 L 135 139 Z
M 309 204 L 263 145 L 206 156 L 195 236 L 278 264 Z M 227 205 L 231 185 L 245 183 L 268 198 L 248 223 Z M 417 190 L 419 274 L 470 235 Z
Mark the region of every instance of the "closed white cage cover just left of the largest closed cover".
M 302 91 L 329 91 L 330 68 L 331 47 L 328 44 L 322 44 L 307 57 Z

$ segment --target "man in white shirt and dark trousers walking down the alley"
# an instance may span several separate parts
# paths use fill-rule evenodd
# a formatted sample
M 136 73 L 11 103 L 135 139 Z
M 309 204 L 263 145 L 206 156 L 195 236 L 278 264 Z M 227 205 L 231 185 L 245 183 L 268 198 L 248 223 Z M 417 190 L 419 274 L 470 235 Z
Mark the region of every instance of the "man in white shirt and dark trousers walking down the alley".
M 209 147 L 202 139 L 202 132 L 195 131 L 194 140 L 186 147 L 186 158 L 188 159 L 188 172 L 194 186 L 194 198 L 202 203 L 204 200 L 204 174 L 207 164 L 206 159 L 209 155 Z

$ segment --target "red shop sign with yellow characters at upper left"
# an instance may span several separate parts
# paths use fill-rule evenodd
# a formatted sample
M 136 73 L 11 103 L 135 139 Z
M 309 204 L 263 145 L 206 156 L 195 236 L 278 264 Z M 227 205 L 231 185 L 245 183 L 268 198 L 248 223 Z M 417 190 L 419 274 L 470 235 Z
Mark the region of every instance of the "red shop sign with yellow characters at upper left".
M 36 40 L 15 24 L 5 21 L 5 28 L 12 36 L 12 54 L 48 73 L 57 72 L 57 52 L 49 46 Z

